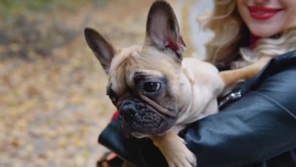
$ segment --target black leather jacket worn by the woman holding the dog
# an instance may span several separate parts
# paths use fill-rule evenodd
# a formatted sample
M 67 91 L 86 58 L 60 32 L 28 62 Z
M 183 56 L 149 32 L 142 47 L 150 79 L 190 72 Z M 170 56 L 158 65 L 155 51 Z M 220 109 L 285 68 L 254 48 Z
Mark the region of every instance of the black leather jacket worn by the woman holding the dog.
M 296 51 L 272 59 L 239 91 L 240 99 L 180 132 L 197 166 L 296 167 Z M 125 138 L 117 119 L 99 143 L 138 167 L 167 166 L 150 140 Z

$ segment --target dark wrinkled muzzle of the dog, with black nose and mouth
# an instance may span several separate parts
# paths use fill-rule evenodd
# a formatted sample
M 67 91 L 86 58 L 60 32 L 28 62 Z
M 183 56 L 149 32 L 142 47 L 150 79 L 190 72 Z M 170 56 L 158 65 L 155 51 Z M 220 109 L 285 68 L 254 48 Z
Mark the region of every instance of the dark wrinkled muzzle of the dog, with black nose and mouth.
M 137 138 L 162 134 L 170 129 L 177 120 L 177 112 L 150 104 L 125 100 L 119 108 L 122 129 Z

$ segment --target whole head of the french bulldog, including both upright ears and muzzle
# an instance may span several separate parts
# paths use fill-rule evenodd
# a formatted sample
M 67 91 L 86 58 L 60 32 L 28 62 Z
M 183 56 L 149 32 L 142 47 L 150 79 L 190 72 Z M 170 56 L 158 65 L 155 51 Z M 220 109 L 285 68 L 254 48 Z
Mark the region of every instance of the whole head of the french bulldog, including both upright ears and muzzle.
M 152 4 L 143 46 L 114 48 L 91 28 L 85 38 L 109 76 L 107 95 L 119 110 L 122 128 L 136 137 L 171 128 L 190 101 L 182 73 L 185 42 L 172 7 L 163 0 Z

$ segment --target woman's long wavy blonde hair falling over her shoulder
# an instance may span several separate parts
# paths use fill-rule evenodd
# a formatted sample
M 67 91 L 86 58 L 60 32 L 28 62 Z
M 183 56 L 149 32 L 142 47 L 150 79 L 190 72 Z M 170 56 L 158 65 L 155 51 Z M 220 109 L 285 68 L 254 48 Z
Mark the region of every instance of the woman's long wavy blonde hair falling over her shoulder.
M 242 21 L 236 0 L 214 0 L 212 12 L 199 17 L 205 21 L 203 29 L 214 33 L 205 44 L 206 59 L 218 67 L 240 68 L 256 62 L 263 56 L 276 57 L 296 50 L 296 21 L 287 25 L 284 32 L 262 38 L 253 50 L 249 49 L 249 30 Z

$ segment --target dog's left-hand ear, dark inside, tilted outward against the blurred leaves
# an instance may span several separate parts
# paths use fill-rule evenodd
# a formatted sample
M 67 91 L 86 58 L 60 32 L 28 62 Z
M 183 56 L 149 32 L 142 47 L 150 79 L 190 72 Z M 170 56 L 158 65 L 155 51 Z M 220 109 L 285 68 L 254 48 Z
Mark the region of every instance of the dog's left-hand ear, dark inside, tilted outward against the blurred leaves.
M 113 46 L 92 28 L 85 28 L 84 36 L 95 57 L 100 61 L 106 74 L 108 74 L 115 53 Z

